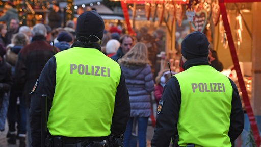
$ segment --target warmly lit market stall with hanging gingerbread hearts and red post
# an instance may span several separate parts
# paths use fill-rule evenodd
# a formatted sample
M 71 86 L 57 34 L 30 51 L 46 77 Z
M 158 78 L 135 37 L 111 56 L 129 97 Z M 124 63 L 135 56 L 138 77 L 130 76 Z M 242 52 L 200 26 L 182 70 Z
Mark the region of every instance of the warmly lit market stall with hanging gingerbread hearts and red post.
M 255 3 L 253 3 L 255 2 Z M 241 94 L 244 110 L 246 111 L 247 118 L 252 132 L 253 142 L 255 145 L 260 146 L 260 122 L 259 104 L 251 102 L 260 102 L 257 92 L 252 91 L 255 89 L 252 86 L 252 79 L 260 79 L 260 67 L 255 66 L 256 57 L 255 53 L 252 54 L 252 47 L 258 47 L 255 38 L 256 32 L 253 32 L 254 24 L 258 23 L 255 20 L 254 9 L 260 1 L 254 0 L 189 0 L 189 1 L 134 1 L 126 0 L 121 1 L 124 17 L 126 20 L 128 33 L 134 33 L 136 29 L 135 18 L 130 18 L 128 8 L 132 8 L 132 16 L 135 16 L 135 9 L 137 5 L 144 5 L 146 11 L 146 18 L 148 23 L 151 21 L 158 21 L 159 26 L 165 26 L 167 29 L 166 39 L 166 56 L 167 59 L 175 58 L 172 51 L 175 51 L 175 32 L 177 27 L 184 24 L 184 19 L 187 21 L 189 31 L 201 31 L 206 28 L 212 31 L 213 47 L 218 51 L 220 57 L 224 60 L 225 69 L 229 69 L 228 76 L 233 78 L 234 82 L 238 84 L 238 89 Z M 258 7 L 260 8 L 260 7 Z M 257 9 L 255 11 L 258 11 Z M 257 22 L 255 22 L 257 21 Z M 131 23 L 132 22 L 132 23 Z M 177 25 L 175 25 L 175 23 Z M 255 26 L 257 27 L 257 25 Z M 260 30 L 260 29 L 259 29 Z M 256 36 L 257 37 L 257 36 Z M 260 37 L 260 35 L 259 35 Z M 256 41 L 256 42 L 254 42 Z M 260 43 L 259 43 L 260 44 Z M 260 45 L 259 45 L 260 46 Z M 231 57 L 230 57 L 230 56 Z M 253 65 L 252 65 L 253 64 Z M 256 67 L 252 69 L 252 67 Z M 242 73 L 245 70 L 244 73 Z M 248 71 L 248 72 L 246 72 Z M 250 74 L 249 74 L 250 73 Z M 255 84 L 256 85 L 256 84 Z M 253 87 L 253 88 L 252 88 Z M 255 93 L 255 97 L 253 94 Z M 251 96 L 252 94 L 252 96 Z M 260 95 L 260 94 L 259 94 Z M 253 108 L 255 106 L 256 108 Z M 253 112 L 254 110 L 254 112 Z M 255 113 L 255 114 L 254 114 Z M 255 115 L 258 115 L 256 117 Z M 259 130 L 258 127 L 259 126 Z M 251 136 L 250 136 L 251 137 Z M 251 138 L 250 138 L 251 140 Z

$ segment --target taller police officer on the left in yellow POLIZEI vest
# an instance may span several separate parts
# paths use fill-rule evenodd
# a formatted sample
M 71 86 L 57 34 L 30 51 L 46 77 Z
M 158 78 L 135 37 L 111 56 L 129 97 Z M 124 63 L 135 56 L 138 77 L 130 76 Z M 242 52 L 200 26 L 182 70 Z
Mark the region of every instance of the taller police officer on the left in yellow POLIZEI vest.
M 48 97 L 48 143 L 54 146 L 99 146 L 124 133 L 128 91 L 119 64 L 100 51 L 104 28 L 97 12 L 84 12 L 77 18 L 77 41 L 45 64 L 31 92 L 32 146 L 40 146 L 42 94 Z

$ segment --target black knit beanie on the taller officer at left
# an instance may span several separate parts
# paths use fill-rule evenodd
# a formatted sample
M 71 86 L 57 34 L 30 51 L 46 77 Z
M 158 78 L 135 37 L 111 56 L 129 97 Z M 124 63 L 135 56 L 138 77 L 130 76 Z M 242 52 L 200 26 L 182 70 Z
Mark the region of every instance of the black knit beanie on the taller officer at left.
M 87 42 L 89 39 L 91 42 L 97 42 L 102 39 L 104 28 L 104 21 L 96 11 L 86 11 L 77 18 L 76 39 L 81 42 Z

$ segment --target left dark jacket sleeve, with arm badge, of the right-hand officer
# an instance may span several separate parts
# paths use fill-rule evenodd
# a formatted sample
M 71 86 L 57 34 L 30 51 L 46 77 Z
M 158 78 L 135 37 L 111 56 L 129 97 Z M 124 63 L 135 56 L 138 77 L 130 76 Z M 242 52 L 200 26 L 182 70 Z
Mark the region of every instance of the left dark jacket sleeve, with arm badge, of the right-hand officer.
M 175 135 L 181 94 L 179 83 L 175 77 L 171 77 L 164 86 L 161 100 L 161 111 L 156 115 L 156 126 L 151 140 L 151 146 L 167 147 L 171 137 Z M 159 105 L 160 106 L 160 105 Z

